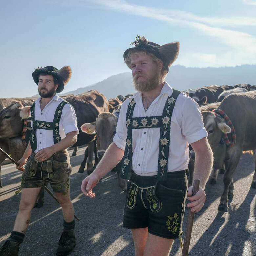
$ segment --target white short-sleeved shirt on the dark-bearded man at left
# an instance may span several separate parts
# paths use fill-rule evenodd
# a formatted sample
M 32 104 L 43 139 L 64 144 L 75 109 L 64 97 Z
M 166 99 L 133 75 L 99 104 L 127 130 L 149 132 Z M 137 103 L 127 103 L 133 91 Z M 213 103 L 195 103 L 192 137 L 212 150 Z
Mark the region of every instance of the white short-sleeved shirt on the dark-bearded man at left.
M 63 99 L 61 99 L 58 95 L 55 95 L 42 111 L 40 108 L 40 100 L 41 97 L 39 97 L 35 101 L 35 120 L 53 122 L 56 108 L 58 107 L 60 102 L 63 101 Z M 75 110 L 70 104 L 65 104 L 62 109 L 62 114 L 59 122 L 59 134 L 61 139 L 65 138 L 67 133 L 74 131 L 76 131 L 76 134 L 79 133 L 79 130 L 77 128 L 77 118 Z M 40 149 L 51 147 L 52 145 L 54 145 L 53 131 L 36 129 L 36 140 L 37 148 L 35 150 L 35 153 L 38 152 Z

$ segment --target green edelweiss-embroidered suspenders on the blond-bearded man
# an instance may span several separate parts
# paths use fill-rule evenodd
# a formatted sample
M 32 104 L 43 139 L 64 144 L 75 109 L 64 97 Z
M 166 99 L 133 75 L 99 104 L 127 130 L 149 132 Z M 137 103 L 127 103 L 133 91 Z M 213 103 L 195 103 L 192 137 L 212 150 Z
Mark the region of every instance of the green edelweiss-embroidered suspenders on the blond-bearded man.
M 165 181 L 168 170 L 169 141 L 170 141 L 170 121 L 176 99 L 180 91 L 174 90 L 168 96 L 161 116 L 152 117 L 132 117 L 136 105 L 134 99 L 128 105 L 126 113 L 127 138 L 124 150 L 123 163 L 120 177 L 127 178 L 132 166 L 132 129 L 160 128 L 159 153 L 157 177 L 159 181 Z

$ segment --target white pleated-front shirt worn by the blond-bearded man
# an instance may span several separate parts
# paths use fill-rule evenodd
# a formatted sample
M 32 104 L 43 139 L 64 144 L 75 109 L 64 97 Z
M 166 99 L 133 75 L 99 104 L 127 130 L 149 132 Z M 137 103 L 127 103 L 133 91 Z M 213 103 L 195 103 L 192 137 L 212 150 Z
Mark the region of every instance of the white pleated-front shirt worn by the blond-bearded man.
M 151 103 L 147 112 L 143 107 L 142 94 L 137 92 L 125 100 L 117 122 L 113 142 L 125 149 L 126 112 L 128 104 L 134 98 L 136 105 L 133 117 L 161 116 L 165 102 L 172 95 L 172 88 L 165 82 L 161 93 Z M 171 117 L 168 172 L 185 170 L 189 163 L 188 144 L 196 142 L 208 133 L 204 128 L 203 117 L 195 100 L 180 93 Z M 132 170 L 138 175 L 157 175 L 160 128 L 132 129 L 133 158 Z

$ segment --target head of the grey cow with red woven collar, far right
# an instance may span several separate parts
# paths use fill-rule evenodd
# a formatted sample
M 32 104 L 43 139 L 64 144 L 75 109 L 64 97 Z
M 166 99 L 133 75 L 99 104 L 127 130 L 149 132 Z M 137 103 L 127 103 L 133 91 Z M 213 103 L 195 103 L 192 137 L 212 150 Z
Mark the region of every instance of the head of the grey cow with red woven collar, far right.
M 222 169 L 227 148 L 224 133 L 230 133 L 231 128 L 211 111 L 202 111 L 202 115 L 204 127 L 208 132 L 207 139 L 214 155 L 213 168 Z

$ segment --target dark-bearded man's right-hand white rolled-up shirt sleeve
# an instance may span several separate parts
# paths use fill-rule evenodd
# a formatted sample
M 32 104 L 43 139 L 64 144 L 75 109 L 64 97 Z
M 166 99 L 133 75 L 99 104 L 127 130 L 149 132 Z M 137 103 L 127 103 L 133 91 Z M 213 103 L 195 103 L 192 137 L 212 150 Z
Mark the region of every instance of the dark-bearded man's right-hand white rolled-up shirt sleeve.
M 61 122 L 66 135 L 69 132 L 75 132 L 75 131 L 76 131 L 76 134 L 79 133 L 79 130 L 77 128 L 77 118 L 76 118 L 75 110 L 70 104 L 66 104 L 63 107 L 62 114 L 61 114 Z

